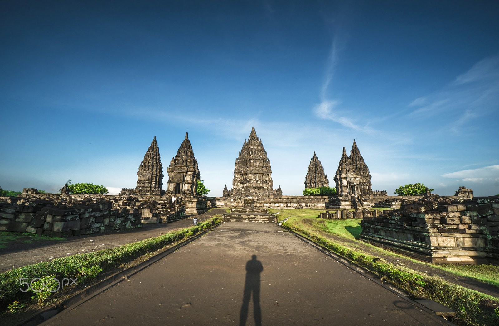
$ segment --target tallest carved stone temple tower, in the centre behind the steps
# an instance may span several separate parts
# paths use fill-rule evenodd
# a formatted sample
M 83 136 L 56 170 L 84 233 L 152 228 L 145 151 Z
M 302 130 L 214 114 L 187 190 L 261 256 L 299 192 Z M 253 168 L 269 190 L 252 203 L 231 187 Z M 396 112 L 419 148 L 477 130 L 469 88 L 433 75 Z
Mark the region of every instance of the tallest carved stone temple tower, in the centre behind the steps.
M 273 194 L 272 170 L 267 152 L 251 128 L 248 142 L 245 140 L 234 166 L 233 197 L 269 197 Z M 225 190 L 225 189 L 224 189 Z

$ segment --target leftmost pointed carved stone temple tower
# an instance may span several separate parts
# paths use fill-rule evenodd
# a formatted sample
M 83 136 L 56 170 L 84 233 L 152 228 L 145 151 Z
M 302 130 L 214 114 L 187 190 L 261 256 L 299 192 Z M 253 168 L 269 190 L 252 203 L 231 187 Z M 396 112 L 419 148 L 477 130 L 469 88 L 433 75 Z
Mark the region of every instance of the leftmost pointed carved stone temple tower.
M 136 194 L 153 196 L 163 194 L 164 191 L 161 189 L 163 187 L 163 164 L 161 164 L 156 136 L 144 155 L 144 160 L 140 163 L 137 176 Z

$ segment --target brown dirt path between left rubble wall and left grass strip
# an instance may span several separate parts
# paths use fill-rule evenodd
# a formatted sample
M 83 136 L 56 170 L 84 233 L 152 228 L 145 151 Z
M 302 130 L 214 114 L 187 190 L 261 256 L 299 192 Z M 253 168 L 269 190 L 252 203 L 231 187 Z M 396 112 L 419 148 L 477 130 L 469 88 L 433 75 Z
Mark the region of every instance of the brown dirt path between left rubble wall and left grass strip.
M 225 208 L 216 208 L 196 217 L 198 222 L 203 222 L 213 217 L 213 215 L 225 213 Z M 154 238 L 193 225 L 193 218 L 194 216 L 189 216 L 171 223 L 144 224 L 141 228 L 129 231 L 94 233 L 72 236 L 63 240 L 36 240 L 26 243 L 31 239 L 30 236 L 26 235 L 12 241 L 6 248 L 0 248 L 0 273 L 50 259 L 118 247 Z

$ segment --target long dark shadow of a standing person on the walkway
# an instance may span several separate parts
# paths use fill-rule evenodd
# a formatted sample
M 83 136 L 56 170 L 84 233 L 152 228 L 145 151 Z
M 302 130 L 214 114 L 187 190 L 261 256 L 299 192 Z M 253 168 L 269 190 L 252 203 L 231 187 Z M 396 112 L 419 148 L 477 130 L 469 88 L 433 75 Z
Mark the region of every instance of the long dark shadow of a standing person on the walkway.
M 243 305 L 239 315 L 239 326 L 245 326 L 248 319 L 248 306 L 250 305 L 251 292 L 253 292 L 253 317 L 254 325 L 261 326 L 260 309 L 260 273 L 263 271 L 263 265 L 256 260 L 256 255 L 251 256 L 251 260 L 246 263 L 246 281 L 243 294 Z

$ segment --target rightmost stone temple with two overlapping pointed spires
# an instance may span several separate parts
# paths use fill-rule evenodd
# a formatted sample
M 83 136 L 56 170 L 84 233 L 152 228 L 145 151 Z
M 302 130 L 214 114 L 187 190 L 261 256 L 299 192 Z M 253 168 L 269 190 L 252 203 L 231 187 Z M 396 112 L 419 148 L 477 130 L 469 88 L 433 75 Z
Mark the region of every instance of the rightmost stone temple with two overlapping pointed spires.
M 355 140 L 353 140 L 350 157 L 343 148 L 343 155 L 334 175 L 334 182 L 340 200 L 350 200 L 352 207 L 363 206 L 364 202 L 370 201 L 369 198 L 373 193 L 371 174 L 369 174 L 369 168 L 364 162 L 364 158 L 360 155 Z

